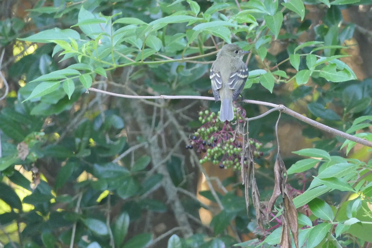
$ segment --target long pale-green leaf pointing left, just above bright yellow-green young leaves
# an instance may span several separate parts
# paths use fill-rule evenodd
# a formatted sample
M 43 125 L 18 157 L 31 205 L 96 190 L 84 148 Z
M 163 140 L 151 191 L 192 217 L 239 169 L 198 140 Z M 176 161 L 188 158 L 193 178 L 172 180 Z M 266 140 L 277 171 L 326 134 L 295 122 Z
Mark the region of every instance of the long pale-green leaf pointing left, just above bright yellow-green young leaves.
M 62 41 L 70 41 L 71 39 L 80 39 L 80 34 L 73 29 L 59 29 L 59 28 L 53 28 L 53 29 L 47 29 L 44 31 L 41 31 L 39 33 L 36 33 L 34 35 L 31 35 L 26 38 L 19 38 L 21 41 L 30 41 L 30 42 L 41 42 L 41 43 L 50 43 L 51 38 L 54 40 L 62 40 Z

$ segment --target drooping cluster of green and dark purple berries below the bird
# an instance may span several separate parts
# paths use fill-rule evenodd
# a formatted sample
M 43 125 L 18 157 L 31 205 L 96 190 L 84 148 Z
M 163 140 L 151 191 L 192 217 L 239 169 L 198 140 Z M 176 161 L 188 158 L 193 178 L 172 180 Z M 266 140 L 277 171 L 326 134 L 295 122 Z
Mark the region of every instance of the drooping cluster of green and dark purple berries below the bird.
M 236 109 L 234 108 L 236 113 Z M 186 149 L 195 149 L 198 153 L 204 153 L 200 162 L 211 161 L 213 164 L 219 165 L 219 168 L 234 168 L 240 169 L 240 161 L 242 155 L 242 140 L 240 137 L 234 138 L 234 130 L 230 122 L 221 122 L 218 118 L 219 112 L 210 112 L 204 110 L 199 112 L 199 120 L 203 124 L 190 138 L 190 144 L 186 145 Z M 246 112 L 243 109 L 239 112 L 237 119 L 239 123 L 243 122 L 246 117 Z M 236 120 L 236 117 L 234 117 Z M 232 123 L 234 122 L 232 120 Z M 249 139 L 249 144 L 253 152 L 253 156 L 259 158 L 263 155 L 259 151 L 262 144 L 256 139 Z M 246 161 L 246 158 L 244 159 Z M 246 163 L 246 162 L 245 162 Z

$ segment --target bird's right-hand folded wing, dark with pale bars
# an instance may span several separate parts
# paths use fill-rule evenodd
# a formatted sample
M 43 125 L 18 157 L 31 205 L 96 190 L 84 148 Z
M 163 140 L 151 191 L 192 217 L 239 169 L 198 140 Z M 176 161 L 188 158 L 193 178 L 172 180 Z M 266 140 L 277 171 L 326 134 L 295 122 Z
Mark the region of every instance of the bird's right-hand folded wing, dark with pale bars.
M 230 74 L 227 81 L 229 88 L 232 90 L 232 100 L 235 101 L 240 92 L 243 90 L 248 77 L 247 65 L 240 61 L 241 63 L 237 66 L 237 70 Z

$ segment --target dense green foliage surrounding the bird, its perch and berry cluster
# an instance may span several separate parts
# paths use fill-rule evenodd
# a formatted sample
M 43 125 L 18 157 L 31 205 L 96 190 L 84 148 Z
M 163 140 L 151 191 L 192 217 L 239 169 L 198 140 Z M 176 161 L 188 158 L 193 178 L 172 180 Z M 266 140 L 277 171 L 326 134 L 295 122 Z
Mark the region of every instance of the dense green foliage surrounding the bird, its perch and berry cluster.
M 257 229 L 240 172 L 200 164 L 203 154 L 185 149 L 202 126 L 198 113 L 219 102 L 87 88 L 212 96 L 216 50 L 237 42 L 251 51 L 244 99 L 371 141 L 371 23 L 370 0 L 1 1 L 0 246 L 278 244 L 280 218 Z M 269 109 L 241 106 L 247 117 Z M 249 125 L 263 144 L 255 165 L 263 208 L 277 118 Z M 340 149 L 344 139 L 285 115 L 278 135 L 300 244 L 371 247 L 370 148 Z M 302 148 L 315 149 L 292 153 Z M 281 207 L 279 199 L 272 215 Z

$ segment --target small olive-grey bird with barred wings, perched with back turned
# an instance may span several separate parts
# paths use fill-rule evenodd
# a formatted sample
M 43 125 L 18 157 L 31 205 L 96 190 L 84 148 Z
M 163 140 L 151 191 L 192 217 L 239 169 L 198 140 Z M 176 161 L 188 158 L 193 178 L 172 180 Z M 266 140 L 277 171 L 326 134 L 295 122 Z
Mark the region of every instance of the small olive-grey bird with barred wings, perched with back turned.
M 226 44 L 212 64 L 209 78 L 214 99 L 216 102 L 221 100 L 219 119 L 222 122 L 234 119 L 232 101 L 238 98 L 246 84 L 248 68 L 242 59 L 248 53 L 236 44 Z

